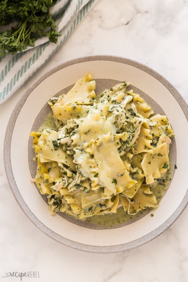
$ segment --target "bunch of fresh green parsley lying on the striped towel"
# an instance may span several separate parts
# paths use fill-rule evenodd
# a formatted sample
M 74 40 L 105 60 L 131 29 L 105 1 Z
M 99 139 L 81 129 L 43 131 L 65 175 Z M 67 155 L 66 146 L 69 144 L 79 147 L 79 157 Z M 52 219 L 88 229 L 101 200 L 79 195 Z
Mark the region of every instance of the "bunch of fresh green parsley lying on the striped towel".
M 53 0 L 0 0 L 0 25 L 17 24 L 12 29 L 0 32 L 0 57 L 6 53 L 17 53 L 34 47 L 34 42 L 41 36 L 48 36 L 51 42 L 57 43 L 61 36 L 50 15 Z M 46 31 L 46 28 L 47 31 Z

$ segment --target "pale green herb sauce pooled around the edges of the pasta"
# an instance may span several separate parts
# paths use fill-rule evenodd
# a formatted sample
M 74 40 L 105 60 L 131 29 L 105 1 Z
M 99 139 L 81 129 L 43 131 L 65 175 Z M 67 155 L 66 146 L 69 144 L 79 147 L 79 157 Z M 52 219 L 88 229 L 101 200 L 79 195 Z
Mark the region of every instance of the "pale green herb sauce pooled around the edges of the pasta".
M 53 129 L 57 131 L 53 113 L 50 112 L 47 117 L 45 118 L 44 123 L 39 128 L 39 131 L 45 130 L 45 129 Z M 170 168 L 172 166 L 170 165 Z M 163 196 L 165 195 L 166 190 L 168 189 L 171 181 L 171 171 L 168 170 L 166 174 L 158 180 L 155 180 L 154 183 L 149 185 L 151 188 L 151 191 L 153 191 L 154 195 L 156 196 L 156 199 L 158 203 L 161 201 Z M 152 208 L 147 208 L 145 210 L 141 210 L 135 215 L 129 215 L 124 210 L 123 207 L 118 208 L 117 213 L 111 213 L 111 214 L 105 214 L 105 215 L 95 215 L 92 217 L 87 217 L 85 222 L 98 225 L 101 227 L 116 227 L 118 225 L 123 225 L 124 223 L 128 221 L 135 221 L 135 218 L 142 217 L 143 214 L 145 214 L 147 211 L 152 210 Z

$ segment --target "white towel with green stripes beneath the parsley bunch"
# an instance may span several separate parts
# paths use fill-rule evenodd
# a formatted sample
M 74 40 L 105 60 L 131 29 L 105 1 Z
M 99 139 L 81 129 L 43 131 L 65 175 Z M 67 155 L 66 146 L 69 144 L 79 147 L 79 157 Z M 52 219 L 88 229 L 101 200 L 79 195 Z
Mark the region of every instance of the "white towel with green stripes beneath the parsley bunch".
M 48 37 L 42 37 L 35 42 L 34 48 L 29 47 L 23 53 L 0 58 L 0 104 L 11 97 L 54 54 L 96 2 L 58 0 L 50 9 L 58 31 L 62 34 L 58 43 L 51 43 Z

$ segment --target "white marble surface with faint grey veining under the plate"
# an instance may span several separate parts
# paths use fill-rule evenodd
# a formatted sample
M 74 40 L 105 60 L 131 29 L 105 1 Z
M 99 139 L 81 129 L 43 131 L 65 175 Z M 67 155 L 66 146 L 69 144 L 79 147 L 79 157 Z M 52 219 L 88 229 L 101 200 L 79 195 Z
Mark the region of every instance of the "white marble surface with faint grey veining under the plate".
M 84 253 L 48 238 L 29 221 L 3 166 L 3 139 L 15 103 L 39 76 L 65 60 L 96 54 L 138 60 L 165 76 L 188 102 L 187 14 L 186 0 L 100 0 L 46 65 L 0 105 L 0 281 L 17 281 L 2 278 L 9 271 L 39 271 L 40 281 L 188 281 L 188 208 L 144 246 L 117 254 Z

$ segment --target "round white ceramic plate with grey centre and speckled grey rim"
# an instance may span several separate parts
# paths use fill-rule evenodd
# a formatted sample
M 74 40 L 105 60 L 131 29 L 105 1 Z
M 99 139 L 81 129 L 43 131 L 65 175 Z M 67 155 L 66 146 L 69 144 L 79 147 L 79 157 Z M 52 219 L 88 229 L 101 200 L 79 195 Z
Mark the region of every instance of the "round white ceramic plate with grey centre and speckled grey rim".
M 86 73 L 97 82 L 96 92 L 119 81 L 131 81 L 153 107 L 155 113 L 167 115 L 175 132 L 170 148 L 172 169 L 170 186 L 159 208 L 145 211 L 130 221 L 102 227 L 73 219 L 65 213 L 50 216 L 46 197 L 30 182 L 36 164 L 31 149 L 31 130 L 37 130 L 50 112 L 47 101 L 66 93 Z M 4 145 L 5 169 L 10 187 L 29 219 L 45 234 L 72 248 L 95 253 L 113 253 L 140 246 L 164 232 L 187 205 L 186 163 L 188 152 L 188 107 L 178 91 L 154 70 L 133 60 L 114 56 L 84 57 L 65 62 L 41 77 L 17 103 L 8 123 Z

